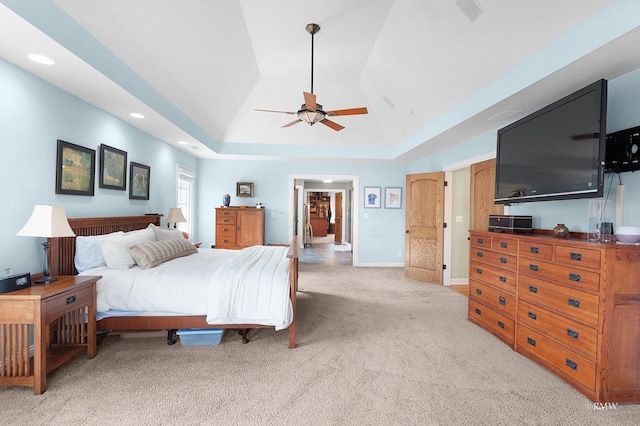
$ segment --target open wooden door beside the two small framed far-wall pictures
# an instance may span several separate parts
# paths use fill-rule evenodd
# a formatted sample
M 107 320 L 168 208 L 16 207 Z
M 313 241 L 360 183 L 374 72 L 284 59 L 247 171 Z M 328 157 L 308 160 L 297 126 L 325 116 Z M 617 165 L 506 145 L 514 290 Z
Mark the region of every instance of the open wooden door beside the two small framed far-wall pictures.
M 444 172 L 407 175 L 404 275 L 442 285 Z

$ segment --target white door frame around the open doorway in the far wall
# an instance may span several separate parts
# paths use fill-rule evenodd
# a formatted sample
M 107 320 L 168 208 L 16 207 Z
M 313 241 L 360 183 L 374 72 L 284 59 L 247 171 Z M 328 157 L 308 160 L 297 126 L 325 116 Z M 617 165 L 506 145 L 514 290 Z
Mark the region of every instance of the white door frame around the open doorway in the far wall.
M 333 179 L 334 181 L 350 181 L 351 185 L 352 185 L 352 195 L 353 195 L 353 202 L 351 203 L 351 214 L 350 214 L 350 220 L 351 220 L 351 235 L 352 235 L 352 241 L 351 241 L 351 254 L 352 254 L 352 265 L 353 266 L 359 266 L 359 255 L 358 255 L 358 249 L 360 247 L 360 240 L 359 240 L 359 226 L 358 226 L 358 217 L 360 216 L 360 176 L 358 175 L 332 175 L 332 174 L 328 174 L 328 173 L 322 173 L 322 174 L 304 174 L 304 173 L 300 173 L 300 174 L 291 174 L 289 175 L 289 206 L 292 206 L 291 209 L 289 210 L 289 223 L 293 223 L 293 219 L 294 219 L 294 208 L 293 208 L 293 202 L 295 200 L 295 196 L 294 196 L 294 191 L 298 190 L 298 188 L 295 187 L 295 182 L 296 180 L 312 180 L 312 181 L 322 181 L 322 179 Z M 300 194 L 302 195 L 302 194 Z M 303 198 L 302 196 L 298 197 L 298 207 L 300 207 L 298 209 L 298 216 L 301 214 L 304 214 L 304 209 L 301 209 L 300 204 L 304 203 L 304 200 L 306 200 L 306 198 Z M 345 203 L 345 197 L 343 197 L 343 203 Z M 343 226 L 344 226 L 344 215 L 345 215 L 345 211 L 343 210 Z M 300 222 L 300 221 L 299 221 Z M 293 239 L 293 228 L 291 226 L 288 227 L 289 228 L 289 241 L 291 241 Z M 298 233 L 298 235 L 302 235 L 300 233 Z M 344 238 L 344 237 L 343 237 Z M 302 239 L 301 239 L 302 240 Z

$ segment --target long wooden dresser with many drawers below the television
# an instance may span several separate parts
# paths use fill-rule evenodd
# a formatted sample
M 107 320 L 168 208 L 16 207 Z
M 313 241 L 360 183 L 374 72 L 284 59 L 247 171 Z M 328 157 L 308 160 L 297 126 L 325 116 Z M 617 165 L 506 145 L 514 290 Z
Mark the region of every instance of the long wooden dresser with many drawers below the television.
M 640 402 L 640 247 L 483 231 L 470 242 L 470 321 L 594 402 Z

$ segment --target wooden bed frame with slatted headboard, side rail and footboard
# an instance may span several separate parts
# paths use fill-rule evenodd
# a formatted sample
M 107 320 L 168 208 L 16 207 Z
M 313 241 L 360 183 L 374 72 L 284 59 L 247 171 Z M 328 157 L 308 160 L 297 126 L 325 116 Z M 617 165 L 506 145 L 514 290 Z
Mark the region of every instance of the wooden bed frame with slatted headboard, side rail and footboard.
M 162 215 L 118 216 L 70 218 L 69 225 L 76 235 L 103 235 L 116 231 L 134 231 L 144 229 L 150 223 L 160 226 Z M 51 275 L 77 275 L 74 265 L 76 239 L 74 237 L 49 239 L 49 261 Z M 289 348 L 296 347 L 296 291 L 298 290 L 298 241 L 297 237 L 289 244 L 289 287 L 291 304 L 293 305 L 293 322 L 289 326 Z M 248 342 L 246 333 L 252 328 L 274 328 L 260 324 L 207 324 L 206 316 L 133 316 L 107 317 L 97 321 L 98 330 L 142 331 L 167 330 L 167 343 L 173 344 L 173 331 L 181 328 L 228 328 L 239 329 L 243 335 L 243 343 Z

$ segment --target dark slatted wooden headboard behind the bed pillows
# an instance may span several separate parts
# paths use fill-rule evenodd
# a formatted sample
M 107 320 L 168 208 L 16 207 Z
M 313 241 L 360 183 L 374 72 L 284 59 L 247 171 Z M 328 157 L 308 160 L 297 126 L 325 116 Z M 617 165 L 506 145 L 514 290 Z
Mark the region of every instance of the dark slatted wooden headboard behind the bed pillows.
M 150 223 L 160 226 L 162 215 L 152 214 L 144 216 L 115 216 L 115 217 L 88 217 L 70 218 L 69 225 L 76 235 L 104 235 L 116 231 L 135 231 L 144 229 Z M 73 263 L 76 253 L 75 237 L 50 238 L 49 263 L 51 275 L 76 275 L 76 267 Z

